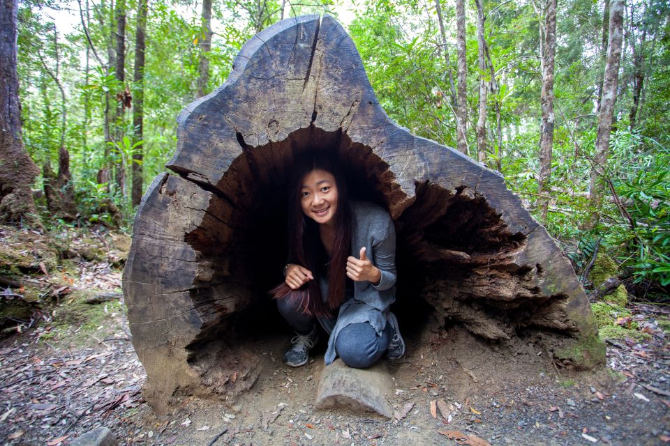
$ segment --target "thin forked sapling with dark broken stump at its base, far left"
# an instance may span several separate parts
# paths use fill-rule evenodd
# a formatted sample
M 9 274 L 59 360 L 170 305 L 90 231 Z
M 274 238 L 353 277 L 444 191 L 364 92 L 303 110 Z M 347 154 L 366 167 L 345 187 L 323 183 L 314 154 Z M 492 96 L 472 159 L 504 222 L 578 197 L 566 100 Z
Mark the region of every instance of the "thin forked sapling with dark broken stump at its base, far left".
M 54 174 L 51 169 L 49 156 L 43 167 L 44 176 L 44 194 L 47 200 L 47 208 L 52 215 L 67 221 L 73 221 L 77 216 L 77 206 L 75 204 L 75 190 L 72 184 L 72 174 L 70 174 L 70 153 L 65 146 L 65 136 L 67 130 L 67 100 L 65 89 L 59 78 L 60 59 L 58 55 L 58 33 L 56 26 L 54 30 L 54 58 L 56 59 L 56 68 L 52 70 L 47 66 L 40 50 L 38 57 L 47 74 L 53 79 L 54 83 L 61 93 L 61 132 L 58 149 L 58 174 Z

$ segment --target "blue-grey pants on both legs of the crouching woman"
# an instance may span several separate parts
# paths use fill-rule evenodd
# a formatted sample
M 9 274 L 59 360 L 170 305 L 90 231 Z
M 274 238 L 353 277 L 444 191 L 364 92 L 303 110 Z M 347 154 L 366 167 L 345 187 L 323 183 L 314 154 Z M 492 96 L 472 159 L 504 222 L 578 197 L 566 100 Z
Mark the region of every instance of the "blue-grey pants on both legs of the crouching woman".
M 277 300 L 279 314 L 288 325 L 299 334 L 308 334 L 318 319 L 324 330 L 330 335 L 335 326 L 335 318 L 315 318 L 301 312 L 291 298 Z M 393 336 L 390 324 L 378 335 L 369 323 L 352 323 L 343 328 L 335 340 L 335 350 L 349 367 L 364 369 L 377 362 L 389 348 Z

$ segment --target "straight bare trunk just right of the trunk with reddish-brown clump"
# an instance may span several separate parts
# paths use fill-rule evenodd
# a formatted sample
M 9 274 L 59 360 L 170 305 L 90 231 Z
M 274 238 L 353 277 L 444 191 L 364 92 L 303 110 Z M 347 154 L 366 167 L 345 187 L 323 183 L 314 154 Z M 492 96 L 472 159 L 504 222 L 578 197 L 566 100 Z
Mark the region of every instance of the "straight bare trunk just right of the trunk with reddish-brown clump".
M 137 29 L 135 29 L 135 82 L 133 101 L 133 146 L 144 137 L 144 32 L 147 27 L 147 1 L 140 0 L 137 6 Z M 133 206 L 140 204 L 142 199 L 142 161 L 144 160 L 144 146 L 135 147 L 133 153 L 133 187 L 131 200 Z

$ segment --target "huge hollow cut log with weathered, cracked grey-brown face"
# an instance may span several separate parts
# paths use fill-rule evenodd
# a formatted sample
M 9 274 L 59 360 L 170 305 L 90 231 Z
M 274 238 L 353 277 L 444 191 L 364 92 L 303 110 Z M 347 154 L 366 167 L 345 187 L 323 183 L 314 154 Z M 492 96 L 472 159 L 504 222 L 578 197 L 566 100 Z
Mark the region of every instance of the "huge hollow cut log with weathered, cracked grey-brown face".
M 175 390 L 230 396 L 253 384 L 257 359 L 237 348 L 234 321 L 282 279 L 285 183 L 308 149 L 338 153 L 354 198 L 389 209 L 399 302 L 423 298 L 486 339 L 546 330 L 556 358 L 602 361 L 586 296 L 544 227 L 499 174 L 392 122 L 331 17 L 251 38 L 228 81 L 181 113 L 178 137 L 174 174 L 137 211 L 124 275 L 158 411 Z

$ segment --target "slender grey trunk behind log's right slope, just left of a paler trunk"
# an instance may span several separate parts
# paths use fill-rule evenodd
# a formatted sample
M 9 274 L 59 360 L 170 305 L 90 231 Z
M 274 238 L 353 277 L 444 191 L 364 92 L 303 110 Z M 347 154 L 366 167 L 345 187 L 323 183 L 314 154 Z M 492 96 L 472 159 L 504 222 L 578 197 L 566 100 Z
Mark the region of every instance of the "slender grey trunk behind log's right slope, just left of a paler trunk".
M 458 53 L 458 105 L 456 141 L 461 153 L 468 153 L 468 61 L 466 59 L 466 1 L 456 0 L 456 52 Z

